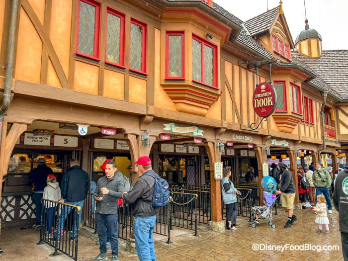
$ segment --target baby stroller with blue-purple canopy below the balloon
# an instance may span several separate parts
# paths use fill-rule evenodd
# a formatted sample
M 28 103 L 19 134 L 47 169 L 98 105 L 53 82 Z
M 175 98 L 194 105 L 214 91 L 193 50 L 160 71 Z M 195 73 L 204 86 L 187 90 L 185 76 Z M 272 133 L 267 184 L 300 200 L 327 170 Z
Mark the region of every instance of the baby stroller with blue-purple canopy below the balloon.
M 279 197 L 279 196 L 278 196 Z M 250 225 L 255 228 L 256 225 L 259 223 L 259 219 L 263 217 L 267 222 L 268 225 L 272 228 L 275 228 L 275 224 L 272 222 L 272 215 L 273 215 L 273 206 L 275 200 L 278 198 L 274 194 L 271 194 L 269 192 L 263 191 L 263 206 L 254 206 L 251 210 L 251 221 Z M 256 217 L 258 216 L 258 217 Z

